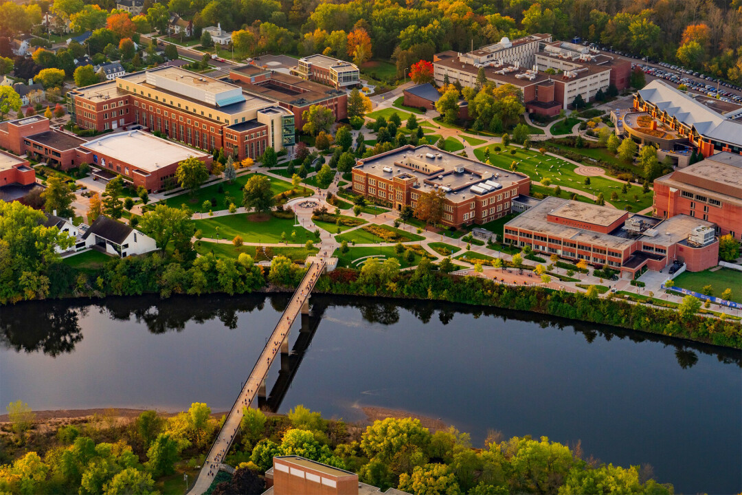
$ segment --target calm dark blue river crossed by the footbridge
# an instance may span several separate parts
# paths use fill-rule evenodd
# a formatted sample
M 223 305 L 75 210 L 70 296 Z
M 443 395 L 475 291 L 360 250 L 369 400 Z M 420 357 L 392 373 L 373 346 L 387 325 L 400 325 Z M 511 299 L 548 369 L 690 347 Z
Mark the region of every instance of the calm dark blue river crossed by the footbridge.
M 226 410 L 286 297 L 2 307 L 0 403 Z M 356 420 L 358 406 L 404 409 L 475 445 L 488 429 L 581 441 L 603 462 L 650 464 L 676 493 L 742 490 L 742 353 L 498 309 L 312 300 L 309 332 L 292 330 L 290 387 L 269 399 L 279 412 L 304 404 Z

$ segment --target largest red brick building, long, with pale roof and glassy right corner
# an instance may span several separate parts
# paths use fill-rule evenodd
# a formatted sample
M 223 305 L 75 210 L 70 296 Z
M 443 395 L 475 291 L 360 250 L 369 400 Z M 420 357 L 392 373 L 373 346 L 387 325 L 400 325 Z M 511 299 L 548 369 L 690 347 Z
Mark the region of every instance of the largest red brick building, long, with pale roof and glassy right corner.
M 139 125 L 204 151 L 223 148 L 240 160 L 294 144 L 294 116 L 277 102 L 182 68 L 131 73 L 68 95 L 82 128 Z

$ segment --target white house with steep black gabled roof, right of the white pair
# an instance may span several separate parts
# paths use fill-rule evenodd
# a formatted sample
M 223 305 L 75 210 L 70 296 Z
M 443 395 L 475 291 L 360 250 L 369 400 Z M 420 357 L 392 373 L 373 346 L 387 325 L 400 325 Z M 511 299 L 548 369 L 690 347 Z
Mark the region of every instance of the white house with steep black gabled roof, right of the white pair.
M 124 258 L 128 255 L 143 255 L 157 249 L 152 237 L 103 215 L 96 218 L 88 232 L 82 235 L 85 247 L 99 246 L 111 255 Z

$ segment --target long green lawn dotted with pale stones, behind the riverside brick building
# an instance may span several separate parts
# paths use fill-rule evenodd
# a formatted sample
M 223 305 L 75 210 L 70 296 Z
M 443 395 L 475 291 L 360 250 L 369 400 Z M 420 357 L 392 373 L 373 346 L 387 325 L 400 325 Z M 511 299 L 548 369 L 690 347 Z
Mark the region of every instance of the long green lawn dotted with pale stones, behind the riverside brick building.
M 495 145 L 490 145 L 490 163 L 496 167 L 505 168 L 510 170 L 510 164 L 513 160 L 518 162 L 518 171 L 531 177 L 532 180 L 541 182 L 542 179 L 548 177 L 551 179 L 551 189 L 555 186 L 569 187 L 584 191 L 590 194 L 597 195 L 603 192 L 605 201 L 616 206 L 618 209 L 624 209 L 626 206 L 631 206 L 631 211 L 639 212 L 643 209 L 651 206 L 652 193 L 642 192 L 642 187 L 632 184 L 626 194 L 621 192 L 622 184 L 608 179 L 607 177 L 590 177 L 590 185 L 585 186 L 585 177 L 578 175 L 574 172 L 577 165 L 569 163 L 565 160 L 549 157 L 543 155 L 537 150 L 529 149 L 524 150 L 522 148 L 508 148 L 507 151 L 500 151 L 496 153 L 494 150 Z M 500 145 L 502 148 L 502 145 Z M 476 148 L 474 155 L 478 160 L 485 160 L 486 146 Z M 515 149 L 515 154 L 510 154 L 510 149 Z M 540 192 L 537 186 L 532 186 L 532 190 Z M 611 193 L 615 192 L 618 194 L 618 200 L 611 200 Z M 634 194 L 637 195 L 639 201 L 634 201 Z M 562 190 L 562 197 L 567 197 L 567 192 Z M 591 201 L 591 200 L 588 200 Z

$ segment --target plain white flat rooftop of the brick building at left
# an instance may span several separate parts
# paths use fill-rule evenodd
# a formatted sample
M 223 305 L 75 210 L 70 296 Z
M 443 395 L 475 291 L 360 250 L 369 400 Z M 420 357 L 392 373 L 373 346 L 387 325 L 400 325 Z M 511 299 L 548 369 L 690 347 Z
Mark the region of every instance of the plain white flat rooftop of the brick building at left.
M 144 131 L 107 134 L 86 143 L 84 148 L 147 172 L 181 162 L 188 157 L 207 156 L 201 151 L 162 140 Z

